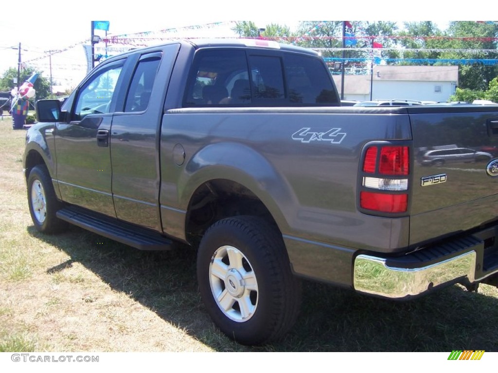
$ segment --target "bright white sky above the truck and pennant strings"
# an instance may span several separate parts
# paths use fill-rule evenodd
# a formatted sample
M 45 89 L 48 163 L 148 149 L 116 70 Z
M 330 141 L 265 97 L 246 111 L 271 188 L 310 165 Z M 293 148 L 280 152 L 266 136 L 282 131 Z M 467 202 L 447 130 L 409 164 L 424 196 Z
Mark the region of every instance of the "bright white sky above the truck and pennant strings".
M 302 20 L 350 19 L 350 20 L 432 20 L 444 27 L 449 20 L 481 20 L 482 7 L 448 9 L 451 3 L 437 0 L 417 0 L 399 6 L 399 1 L 356 0 L 347 2 L 306 0 L 269 1 L 250 0 L 189 0 L 176 2 L 86 0 L 63 2 L 55 0 L 24 0 L 16 3 L 21 10 L 18 17 L 6 12 L 0 19 L 0 74 L 8 68 L 17 68 L 18 47 L 21 46 L 21 62 L 43 71 L 43 76 L 64 86 L 75 87 L 87 73 L 87 60 L 83 45 L 89 44 L 92 20 L 108 20 L 108 36 L 129 35 L 175 29 L 171 33 L 160 33 L 168 37 L 228 37 L 235 36 L 230 30 L 233 21 L 252 21 L 258 27 L 278 23 L 297 27 Z M 440 2 L 440 5 L 437 5 Z M 489 0 L 490 4 L 492 3 Z M 68 5 L 68 4 L 72 5 Z M 353 2 L 351 2 L 353 3 Z M 416 7 L 413 4 L 416 3 Z M 141 5 L 143 4 L 143 5 Z M 411 6 L 412 8 L 409 8 Z M 453 5 L 456 8 L 456 6 Z M 430 11 L 427 11 L 427 9 Z M 391 9 L 391 10 L 389 10 Z M 461 14 L 458 14 L 458 11 Z M 442 14 L 427 19 L 427 14 Z M 444 15 L 444 16 L 443 16 Z M 435 19 L 443 19 L 437 21 Z M 402 21 L 399 21 L 402 22 Z M 155 32 L 155 33 L 154 33 Z M 105 35 L 105 31 L 95 30 Z M 159 40 L 147 42 L 149 45 Z M 96 44 L 104 47 L 104 43 Z M 119 53 L 126 45 L 116 45 Z M 49 51 L 57 51 L 50 55 Z M 103 53 L 105 54 L 105 52 Z M 21 65 L 22 66 L 22 65 Z

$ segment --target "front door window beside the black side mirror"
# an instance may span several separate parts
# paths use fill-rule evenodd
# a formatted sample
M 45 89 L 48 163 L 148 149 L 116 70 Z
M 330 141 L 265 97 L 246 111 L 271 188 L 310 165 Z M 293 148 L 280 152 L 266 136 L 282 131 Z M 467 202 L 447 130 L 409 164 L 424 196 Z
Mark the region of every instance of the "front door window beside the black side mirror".
M 109 112 L 111 99 L 121 74 L 122 64 L 97 72 L 79 91 L 71 120 L 82 120 L 88 114 Z

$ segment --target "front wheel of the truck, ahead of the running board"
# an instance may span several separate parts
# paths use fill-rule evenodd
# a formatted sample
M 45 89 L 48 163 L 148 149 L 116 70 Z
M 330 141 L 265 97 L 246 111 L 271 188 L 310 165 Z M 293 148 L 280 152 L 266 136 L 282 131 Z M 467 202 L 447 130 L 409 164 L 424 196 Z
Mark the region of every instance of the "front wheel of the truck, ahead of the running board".
M 63 207 L 55 196 L 48 170 L 43 165 L 31 169 L 27 180 L 29 213 L 35 228 L 43 233 L 58 233 L 67 228 L 67 223 L 55 214 Z

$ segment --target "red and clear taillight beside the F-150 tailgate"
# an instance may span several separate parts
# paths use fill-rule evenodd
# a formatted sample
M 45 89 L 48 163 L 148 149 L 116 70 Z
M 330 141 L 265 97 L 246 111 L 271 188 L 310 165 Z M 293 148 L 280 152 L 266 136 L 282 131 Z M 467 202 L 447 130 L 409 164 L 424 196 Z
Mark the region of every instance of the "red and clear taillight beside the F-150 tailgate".
M 408 146 L 370 145 L 363 158 L 361 208 L 385 213 L 406 212 L 409 170 Z

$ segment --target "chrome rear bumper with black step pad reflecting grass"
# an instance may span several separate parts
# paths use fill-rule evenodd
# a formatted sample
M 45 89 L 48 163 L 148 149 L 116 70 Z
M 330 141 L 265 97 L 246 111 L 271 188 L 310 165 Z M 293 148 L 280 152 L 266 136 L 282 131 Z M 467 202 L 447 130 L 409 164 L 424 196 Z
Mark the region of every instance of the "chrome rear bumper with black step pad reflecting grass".
M 386 298 L 410 298 L 458 282 L 487 282 L 497 274 L 498 224 L 401 257 L 360 254 L 353 286 Z

